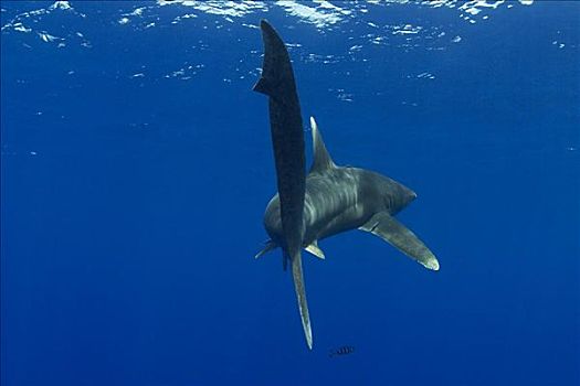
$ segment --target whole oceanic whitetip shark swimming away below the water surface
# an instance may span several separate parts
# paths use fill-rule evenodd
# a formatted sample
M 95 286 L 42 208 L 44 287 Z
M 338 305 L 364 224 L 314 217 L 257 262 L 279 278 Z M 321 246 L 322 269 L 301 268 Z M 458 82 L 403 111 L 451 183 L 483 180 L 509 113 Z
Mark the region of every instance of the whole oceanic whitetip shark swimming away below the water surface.
M 294 72 L 284 42 L 265 20 L 262 76 L 254 90 L 270 99 L 270 126 L 278 193 L 270 201 L 264 226 L 270 240 L 256 258 L 282 248 L 284 269 L 289 261 L 308 349 L 313 333 L 302 271 L 302 249 L 325 258 L 318 240 L 350 229 L 370 232 L 424 267 L 439 270 L 429 248 L 394 215 L 416 194 L 388 176 L 369 170 L 338 167 L 326 150 L 310 118 L 314 162 L 306 174 L 304 129 Z

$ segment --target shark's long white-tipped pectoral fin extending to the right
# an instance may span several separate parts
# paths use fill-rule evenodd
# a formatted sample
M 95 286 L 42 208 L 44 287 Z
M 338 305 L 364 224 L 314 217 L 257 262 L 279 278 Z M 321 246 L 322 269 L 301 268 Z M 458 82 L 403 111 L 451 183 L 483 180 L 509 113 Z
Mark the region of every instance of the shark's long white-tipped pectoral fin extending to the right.
M 431 250 L 414 233 L 399 223 L 389 213 L 379 212 L 375 214 L 359 229 L 379 236 L 425 268 L 439 270 L 439 261 Z

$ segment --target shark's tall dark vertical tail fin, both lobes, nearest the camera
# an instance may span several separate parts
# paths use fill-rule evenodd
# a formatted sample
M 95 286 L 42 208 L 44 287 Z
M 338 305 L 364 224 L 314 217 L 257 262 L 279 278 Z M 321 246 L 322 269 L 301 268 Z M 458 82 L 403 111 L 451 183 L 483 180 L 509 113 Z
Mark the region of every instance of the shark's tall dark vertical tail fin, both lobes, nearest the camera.
M 254 89 L 270 97 L 270 129 L 276 165 L 280 196 L 284 264 L 291 260 L 294 287 L 298 298 L 302 324 L 308 349 L 313 333 L 304 279 L 300 249 L 304 242 L 304 197 L 306 192 L 306 158 L 300 104 L 288 51 L 277 32 L 265 20 L 260 23 L 264 41 L 262 77 Z

